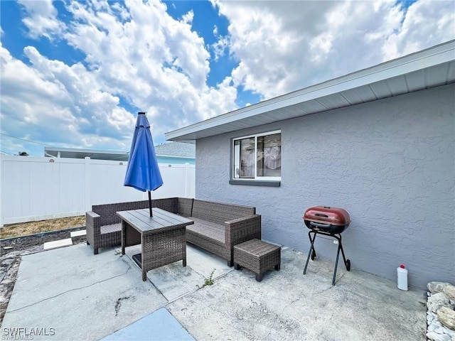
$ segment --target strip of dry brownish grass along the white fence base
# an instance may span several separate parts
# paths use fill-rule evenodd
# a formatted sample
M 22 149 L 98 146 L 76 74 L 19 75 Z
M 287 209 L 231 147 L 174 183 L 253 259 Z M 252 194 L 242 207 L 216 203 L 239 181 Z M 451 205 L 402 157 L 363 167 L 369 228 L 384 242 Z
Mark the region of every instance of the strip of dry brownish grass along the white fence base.
M 9 224 L 0 228 L 0 239 L 21 237 L 29 234 L 68 229 L 70 227 L 85 226 L 85 215 L 69 218 L 41 220 L 39 222 L 23 222 Z

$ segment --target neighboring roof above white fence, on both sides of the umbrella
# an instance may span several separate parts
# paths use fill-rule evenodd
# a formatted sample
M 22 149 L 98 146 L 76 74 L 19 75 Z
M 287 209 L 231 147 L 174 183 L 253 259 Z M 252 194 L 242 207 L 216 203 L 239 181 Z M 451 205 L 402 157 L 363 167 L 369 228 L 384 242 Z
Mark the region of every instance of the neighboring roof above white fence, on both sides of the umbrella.
M 169 158 L 196 158 L 195 144 L 171 142 L 155 146 L 156 156 Z M 54 158 L 85 158 L 95 160 L 128 161 L 129 151 L 102 151 L 95 149 L 44 147 L 44 156 Z

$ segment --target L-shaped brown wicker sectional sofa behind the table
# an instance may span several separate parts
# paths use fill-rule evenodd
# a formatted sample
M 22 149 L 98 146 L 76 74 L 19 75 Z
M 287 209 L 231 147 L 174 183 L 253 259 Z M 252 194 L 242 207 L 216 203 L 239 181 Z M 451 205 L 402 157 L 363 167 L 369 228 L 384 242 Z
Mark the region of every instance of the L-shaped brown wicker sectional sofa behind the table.
M 234 245 L 261 239 L 261 216 L 255 207 L 184 197 L 154 199 L 151 205 L 193 220 L 186 227 L 186 241 L 222 257 L 229 266 L 233 266 Z M 148 207 L 147 200 L 92 206 L 86 213 L 87 244 L 95 254 L 100 247 L 120 244 L 122 224 L 116 212 Z

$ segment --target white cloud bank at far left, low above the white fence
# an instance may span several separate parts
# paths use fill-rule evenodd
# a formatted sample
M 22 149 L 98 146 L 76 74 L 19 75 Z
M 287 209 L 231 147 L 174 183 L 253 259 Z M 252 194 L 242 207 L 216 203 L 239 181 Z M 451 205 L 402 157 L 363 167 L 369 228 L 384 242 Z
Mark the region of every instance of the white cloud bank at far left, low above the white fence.
M 81 64 L 48 60 L 33 47 L 24 54 L 31 65 L 0 46 L 2 130 L 50 145 L 127 148 L 134 117 L 99 90 L 94 75 Z

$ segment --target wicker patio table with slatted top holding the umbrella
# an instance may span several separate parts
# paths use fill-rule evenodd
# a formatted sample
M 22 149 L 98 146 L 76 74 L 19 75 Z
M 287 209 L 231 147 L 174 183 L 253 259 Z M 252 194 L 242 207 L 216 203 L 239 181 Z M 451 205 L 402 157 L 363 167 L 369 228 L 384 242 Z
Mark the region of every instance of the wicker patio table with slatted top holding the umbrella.
M 141 253 L 133 256 L 142 269 L 142 281 L 147 271 L 174 261 L 186 266 L 186 226 L 194 224 L 180 215 L 153 207 L 149 209 L 117 212 L 122 218 L 122 254 L 125 247 L 141 244 Z

